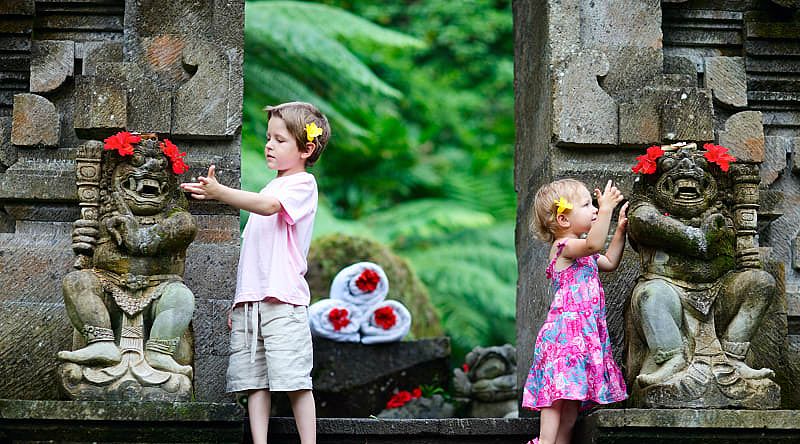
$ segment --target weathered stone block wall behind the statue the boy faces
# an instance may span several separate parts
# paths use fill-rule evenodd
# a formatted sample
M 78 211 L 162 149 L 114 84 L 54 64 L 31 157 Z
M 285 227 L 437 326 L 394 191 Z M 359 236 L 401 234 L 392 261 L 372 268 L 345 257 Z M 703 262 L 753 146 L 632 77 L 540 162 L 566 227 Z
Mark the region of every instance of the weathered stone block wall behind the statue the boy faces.
M 78 218 L 74 158 L 87 139 L 155 132 L 239 186 L 243 0 L 0 4 L 0 398 L 58 399 L 55 353 L 72 327 L 60 282 Z M 239 217 L 193 202 L 188 251 L 195 398 L 224 394 Z

